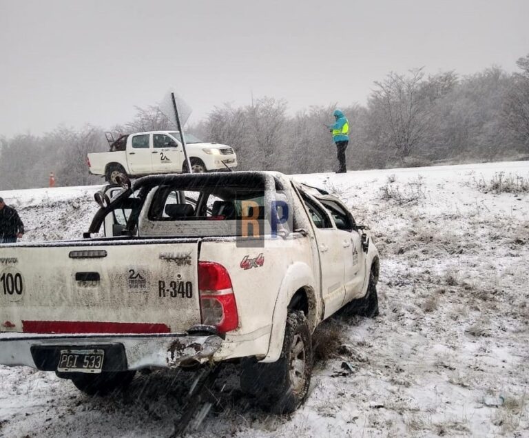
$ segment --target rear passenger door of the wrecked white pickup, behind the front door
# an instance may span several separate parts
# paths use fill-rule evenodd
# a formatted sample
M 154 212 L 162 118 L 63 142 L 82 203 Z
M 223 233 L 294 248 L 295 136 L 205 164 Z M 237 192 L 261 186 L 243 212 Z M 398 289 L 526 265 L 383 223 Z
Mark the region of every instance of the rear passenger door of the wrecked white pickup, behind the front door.
M 322 296 L 325 303 L 324 318 L 342 307 L 345 298 L 344 255 L 342 237 L 326 210 L 315 199 L 302 192 L 302 199 L 314 225 L 322 277 Z

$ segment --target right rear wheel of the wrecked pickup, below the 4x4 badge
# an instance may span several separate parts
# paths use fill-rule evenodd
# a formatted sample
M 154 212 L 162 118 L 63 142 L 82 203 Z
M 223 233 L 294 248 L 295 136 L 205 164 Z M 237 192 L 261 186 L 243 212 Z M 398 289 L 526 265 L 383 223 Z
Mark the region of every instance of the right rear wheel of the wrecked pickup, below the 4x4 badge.
M 307 399 L 313 367 L 312 339 L 303 312 L 287 317 L 283 349 L 273 364 L 247 360 L 242 364 L 240 387 L 257 397 L 258 404 L 276 414 L 294 412 Z

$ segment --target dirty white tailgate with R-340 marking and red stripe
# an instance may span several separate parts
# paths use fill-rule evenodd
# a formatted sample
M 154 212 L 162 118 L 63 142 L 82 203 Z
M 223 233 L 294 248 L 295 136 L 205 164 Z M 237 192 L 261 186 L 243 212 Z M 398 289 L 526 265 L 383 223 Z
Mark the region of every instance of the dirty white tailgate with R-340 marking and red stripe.
M 197 266 L 198 240 L 0 248 L 0 331 L 183 332 L 200 323 Z

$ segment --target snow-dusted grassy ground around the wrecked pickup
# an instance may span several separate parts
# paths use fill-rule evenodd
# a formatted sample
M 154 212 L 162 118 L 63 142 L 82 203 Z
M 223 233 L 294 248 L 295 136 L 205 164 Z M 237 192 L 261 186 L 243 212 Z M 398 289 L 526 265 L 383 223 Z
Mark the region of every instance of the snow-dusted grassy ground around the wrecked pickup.
M 522 191 L 493 190 L 500 177 Z M 335 348 L 290 417 L 256 408 L 227 368 L 222 410 L 192 436 L 529 437 L 529 162 L 296 178 L 340 195 L 373 230 L 380 316 L 322 325 Z M 24 240 L 70 239 L 87 230 L 96 189 L 0 196 L 17 206 Z M 137 375 L 126 392 L 92 398 L 52 373 L 0 366 L 0 435 L 165 437 L 189 377 Z

